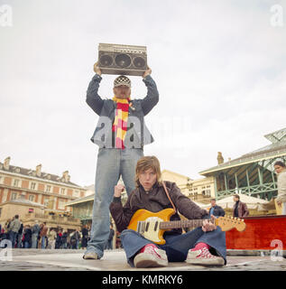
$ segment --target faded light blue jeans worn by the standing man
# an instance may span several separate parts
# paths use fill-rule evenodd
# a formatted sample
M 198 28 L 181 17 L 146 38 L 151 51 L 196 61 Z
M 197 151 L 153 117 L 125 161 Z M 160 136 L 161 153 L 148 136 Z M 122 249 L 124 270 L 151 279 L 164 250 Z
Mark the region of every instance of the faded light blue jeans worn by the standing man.
M 110 232 L 109 205 L 120 176 L 129 196 L 135 189 L 135 167 L 143 157 L 143 149 L 99 148 L 97 154 L 96 193 L 93 204 L 90 240 L 86 252 L 95 252 L 101 258 Z

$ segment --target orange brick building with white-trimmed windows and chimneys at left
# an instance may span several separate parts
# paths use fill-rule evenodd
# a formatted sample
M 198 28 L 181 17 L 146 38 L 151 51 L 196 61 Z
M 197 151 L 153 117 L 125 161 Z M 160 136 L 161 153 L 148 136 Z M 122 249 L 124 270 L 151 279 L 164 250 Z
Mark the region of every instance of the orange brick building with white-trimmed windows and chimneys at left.
M 87 189 L 70 182 L 68 171 L 63 172 L 60 177 L 42 172 L 42 164 L 37 165 L 35 170 L 31 170 L 11 165 L 10 160 L 11 158 L 7 157 L 4 163 L 0 163 L 1 223 L 9 219 L 9 216 L 5 214 L 5 204 L 11 204 L 14 200 L 22 199 L 30 201 L 30 204 L 41 205 L 44 208 L 42 217 L 69 218 L 72 209 L 66 204 L 71 200 L 85 197 Z M 17 205 L 19 206 L 19 203 Z M 15 210 L 14 215 L 16 213 Z

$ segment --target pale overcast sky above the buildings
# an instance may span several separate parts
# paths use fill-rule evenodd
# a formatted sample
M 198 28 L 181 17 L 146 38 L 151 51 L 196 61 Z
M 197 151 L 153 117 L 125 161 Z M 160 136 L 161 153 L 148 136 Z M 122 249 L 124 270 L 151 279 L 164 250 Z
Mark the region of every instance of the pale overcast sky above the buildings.
M 2 163 L 94 182 L 98 117 L 86 92 L 100 42 L 147 46 L 160 101 L 145 117 L 155 142 L 144 154 L 162 170 L 197 179 L 217 152 L 234 159 L 286 126 L 285 0 L 0 0 L 0 17 L 3 5 Z M 145 97 L 130 78 L 132 98 Z M 114 79 L 103 75 L 102 97 Z

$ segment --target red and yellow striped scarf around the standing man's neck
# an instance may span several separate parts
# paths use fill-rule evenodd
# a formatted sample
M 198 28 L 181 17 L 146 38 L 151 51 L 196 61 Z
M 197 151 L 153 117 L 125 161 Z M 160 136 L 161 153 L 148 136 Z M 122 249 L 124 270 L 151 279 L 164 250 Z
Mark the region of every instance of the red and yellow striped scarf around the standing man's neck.
M 112 98 L 116 102 L 115 122 L 112 131 L 115 132 L 115 148 L 125 149 L 125 135 L 127 131 L 128 108 L 130 98 Z

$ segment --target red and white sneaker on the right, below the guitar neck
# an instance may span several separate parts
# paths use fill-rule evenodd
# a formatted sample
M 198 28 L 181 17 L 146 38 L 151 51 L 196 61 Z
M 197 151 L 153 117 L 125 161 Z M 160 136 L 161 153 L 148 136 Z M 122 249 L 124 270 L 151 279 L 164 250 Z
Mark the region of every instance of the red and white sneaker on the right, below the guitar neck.
M 199 250 L 189 250 L 186 262 L 192 265 L 201 266 L 224 266 L 225 260 L 221 256 L 214 256 L 210 254 L 207 247 Z

